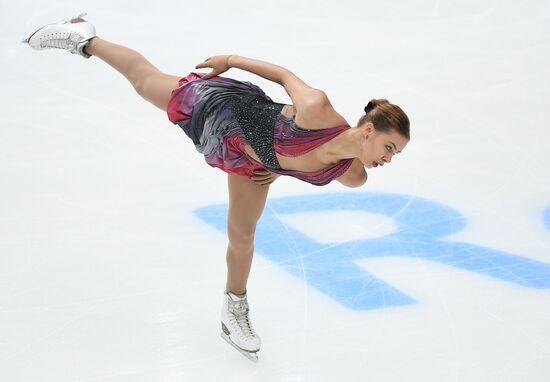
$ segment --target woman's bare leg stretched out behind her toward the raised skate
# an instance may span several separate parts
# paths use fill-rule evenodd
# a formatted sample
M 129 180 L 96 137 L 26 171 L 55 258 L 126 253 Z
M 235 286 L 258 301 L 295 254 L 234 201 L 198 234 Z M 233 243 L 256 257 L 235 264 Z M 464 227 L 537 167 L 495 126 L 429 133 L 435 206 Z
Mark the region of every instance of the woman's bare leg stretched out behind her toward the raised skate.
M 118 70 L 147 101 L 166 111 L 172 90 L 181 77 L 162 73 L 135 50 L 94 37 L 86 53 L 96 56 Z

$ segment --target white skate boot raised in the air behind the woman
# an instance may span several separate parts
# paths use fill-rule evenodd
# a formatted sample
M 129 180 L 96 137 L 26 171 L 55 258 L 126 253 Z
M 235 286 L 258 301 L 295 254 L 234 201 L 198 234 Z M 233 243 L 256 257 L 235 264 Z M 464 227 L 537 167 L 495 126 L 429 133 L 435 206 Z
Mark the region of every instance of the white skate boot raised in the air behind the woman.
M 95 27 L 84 20 L 83 16 L 86 16 L 86 13 L 57 24 L 46 25 L 22 42 L 28 43 L 31 48 L 37 50 L 64 49 L 72 54 L 90 58 L 84 48 L 96 36 Z

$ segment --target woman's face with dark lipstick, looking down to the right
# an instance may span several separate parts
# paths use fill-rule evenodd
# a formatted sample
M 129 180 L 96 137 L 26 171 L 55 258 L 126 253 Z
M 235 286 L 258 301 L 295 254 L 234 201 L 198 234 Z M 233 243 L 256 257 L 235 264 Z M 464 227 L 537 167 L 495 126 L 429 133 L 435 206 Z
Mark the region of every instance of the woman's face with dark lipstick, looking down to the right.
M 360 128 L 364 138 L 361 145 L 361 162 L 366 168 L 390 163 L 393 156 L 400 153 L 409 143 L 409 140 L 395 129 L 388 132 L 378 132 L 371 122 Z

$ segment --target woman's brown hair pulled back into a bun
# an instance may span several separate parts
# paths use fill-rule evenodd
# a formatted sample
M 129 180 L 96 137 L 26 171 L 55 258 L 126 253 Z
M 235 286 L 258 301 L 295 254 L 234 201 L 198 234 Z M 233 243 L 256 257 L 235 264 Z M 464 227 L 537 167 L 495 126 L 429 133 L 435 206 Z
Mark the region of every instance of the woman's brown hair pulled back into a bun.
M 395 129 L 405 138 L 411 139 L 409 117 L 399 106 L 390 103 L 387 99 L 372 99 L 365 106 L 365 113 L 357 126 L 372 122 L 376 131 L 388 132 L 390 129 Z

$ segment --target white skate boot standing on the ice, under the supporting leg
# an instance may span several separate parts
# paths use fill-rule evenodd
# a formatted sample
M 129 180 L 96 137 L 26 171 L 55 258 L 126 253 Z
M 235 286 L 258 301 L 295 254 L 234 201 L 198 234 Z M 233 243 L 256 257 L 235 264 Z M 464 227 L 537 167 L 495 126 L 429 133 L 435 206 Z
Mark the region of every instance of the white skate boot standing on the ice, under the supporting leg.
M 258 361 L 261 340 L 248 317 L 246 293 L 226 292 L 222 305 L 222 338 L 251 361 Z

